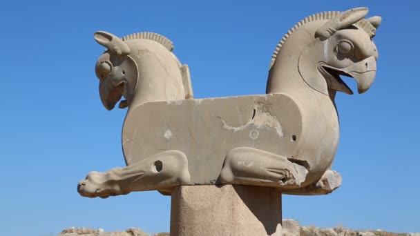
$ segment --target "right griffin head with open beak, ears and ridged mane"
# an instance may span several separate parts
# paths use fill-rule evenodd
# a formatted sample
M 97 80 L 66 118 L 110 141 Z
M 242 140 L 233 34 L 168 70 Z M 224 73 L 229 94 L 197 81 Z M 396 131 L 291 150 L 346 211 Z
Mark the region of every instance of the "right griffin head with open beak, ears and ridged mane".
M 325 95 L 331 96 L 331 92 L 335 95 L 336 91 L 352 95 L 340 77 L 345 76 L 357 81 L 359 93 L 365 92 L 376 75 L 378 52 L 372 38 L 381 23 L 381 17 L 364 19 L 366 14 L 367 8 L 354 8 L 307 17 L 283 37 L 271 65 L 285 46 L 283 43 L 294 36 L 293 40 L 289 39 L 294 42 L 288 45 L 295 47 L 290 50 L 300 50 L 298 72 L 307 85 Z M 303 46 L 297 46 L 298 43 Z

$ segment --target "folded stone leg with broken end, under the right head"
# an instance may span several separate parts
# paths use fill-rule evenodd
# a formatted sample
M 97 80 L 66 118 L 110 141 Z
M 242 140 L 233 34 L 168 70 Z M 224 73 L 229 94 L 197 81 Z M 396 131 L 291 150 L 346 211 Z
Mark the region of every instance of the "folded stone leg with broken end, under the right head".
M 220 173 L 222 184 L 297 188 L 308 171 L 286 157 L 255 148 L 233 148 Z

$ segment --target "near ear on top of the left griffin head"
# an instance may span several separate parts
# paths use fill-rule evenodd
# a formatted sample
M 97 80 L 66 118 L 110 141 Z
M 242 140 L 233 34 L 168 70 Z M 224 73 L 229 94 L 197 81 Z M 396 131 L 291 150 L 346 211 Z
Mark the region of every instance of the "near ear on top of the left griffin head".
M 130 48 L 127 43 L 122 41 L 119 37 L 104 31 L 97 31 L 93 37 L 100 45 L 108 48 L 109 50 L 117 53 L 118 55 L 130 54 Z

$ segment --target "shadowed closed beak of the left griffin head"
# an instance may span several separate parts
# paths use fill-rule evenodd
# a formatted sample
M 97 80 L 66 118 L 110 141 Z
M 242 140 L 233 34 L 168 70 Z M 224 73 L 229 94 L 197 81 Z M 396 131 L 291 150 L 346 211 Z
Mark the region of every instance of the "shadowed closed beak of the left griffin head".
M 120 81 L 114 85 L 108 78 L 99 82 L 99 96 L 106 110 L 113 110 L 115 104 L 120 101 L 122 92 L 124 92 L 124 83 L 124 81 Z

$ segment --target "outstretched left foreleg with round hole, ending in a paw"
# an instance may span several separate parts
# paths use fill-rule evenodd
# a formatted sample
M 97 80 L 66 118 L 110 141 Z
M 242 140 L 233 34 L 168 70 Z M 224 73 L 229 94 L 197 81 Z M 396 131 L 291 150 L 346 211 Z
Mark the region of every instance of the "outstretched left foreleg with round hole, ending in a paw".
M 133 191 L 167 192 L 189 181 L 187 157 L 178 150 L 168 150 L 124 168 L 90 172 L 86 179 L 79 181 L 77 191 L 83 197 L 106 198 Z

